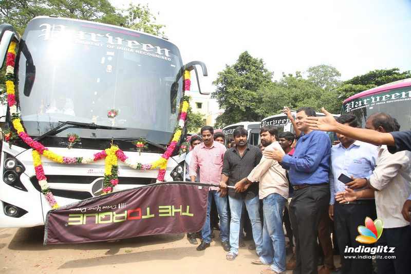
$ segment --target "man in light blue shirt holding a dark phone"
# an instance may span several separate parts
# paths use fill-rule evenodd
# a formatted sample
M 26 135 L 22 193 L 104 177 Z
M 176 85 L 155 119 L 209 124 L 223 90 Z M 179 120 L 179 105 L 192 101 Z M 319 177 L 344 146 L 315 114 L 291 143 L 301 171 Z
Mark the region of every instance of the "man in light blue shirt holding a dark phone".
M 337 122 L 351 127 L 359 127 L 360 125 L 356 116 L 352 114 L 338 117 Z M 354 140 L 344 134 L 337 133 L 337 137 L 340 143 L 331 148 L 331 173 L 329 176 L 331 198 L 328 213 L 331 220 L 334 221 L 335 233 L 338 235 L 341 273 L 371 274 L 371 259 L 345 259 L 344 250 L 346 246 L 356 248 L 360 245 L 356 241 L 358 226 L 364 223 L 367 216 L 372 220 L 376 219 L 375 199 L 363 198 L 340 204 L 335 203 L 335 194 L 345 191 L 346 187 L 359 190 L 361 186 L 367 184 L 367 179 L 376 166 L 378 150 L 376 145 Z M 351 177 L 352 181 L 344 184 L 339 180 L 341 174 Z

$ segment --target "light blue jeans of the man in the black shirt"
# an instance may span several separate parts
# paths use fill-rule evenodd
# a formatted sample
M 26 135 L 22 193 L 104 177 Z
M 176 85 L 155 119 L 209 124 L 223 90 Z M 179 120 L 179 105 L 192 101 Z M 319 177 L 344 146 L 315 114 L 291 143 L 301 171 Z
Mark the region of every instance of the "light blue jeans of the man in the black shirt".
M 240 218 L 242 212 L 242 204 L 246 204 L 248 215 L 250 216 L 251 226 L 253 229 L 253 238 L 255 242 L 255 250 L 257 254 L 261 253 L 262 242 L 261 239 L 261 221 L 258 212 L 259 199 L 255 196 L 252 199 L 235 199 L 228 197 L 230 202 L 231 222 L 230 222 L 230 246 L 231 253 L 238 254 L 238 237 L 240 233 Z

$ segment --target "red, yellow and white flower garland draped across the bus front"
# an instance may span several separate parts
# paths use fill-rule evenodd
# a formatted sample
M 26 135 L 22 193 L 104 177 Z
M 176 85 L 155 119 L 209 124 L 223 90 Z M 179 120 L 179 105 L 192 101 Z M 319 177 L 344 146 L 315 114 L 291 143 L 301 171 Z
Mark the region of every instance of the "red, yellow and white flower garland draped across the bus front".
M 166 151 L 161 155 L 161 157 L 154 161 L 153 163 L 142 164 L 140 162 L 132 162 L 120 150 L 116 145 L 111 145 L 109 149 L 105 149 L 101 152 L 95 153 L 93 157 L 64 157 L 54 152 L 49 151 L 43 144 L 38 141 L 34 141 L 24 130 L 24 127 L 21 123 L 20 116 L 17 113 L 16 98 L 15 98 L 15 86 L 14 86 L 14 65 L 15 65 L 15 52 L 16 43 L 11 42 L 9 49 L 7 51 L 7 60 L 6 60 L 6 92 L 7 92 L 7 102 L 10 109 L 10 116 L 14 129 L 17 132 L 17 135 L 32 149 L 33 156 L 33 165 L 37 179 L 39 180 L 39 185 L 42 189 L 42 193 L 45 196 L 47 202 L 50 204 L 51 208 L 58 208 L 57 202 L 51 193 L 47 178 L 44 174 L 41 155 L 47 157 L 48 159 L 64 163 L 67 165 L 78 164 L 78 163 L 90 163 L 95 162 L 101 159 L 105 159 L 105 171 L 104 171 L 104 181 L 103 181 L 103 194 L 113 192 L 114 187 L 119 183 L 118 180 L 118 159 L 124 162 L 127 166 L 137 169 L 137 170 L 153 170 L 159 168 L 157 175 L 158 181 L 164 181 L 164 175 L 167 167 L 167 161 L 173 154 L 174 150 L 177 147 L 177 143 L 181 138 L 182 127 L 187 116 L 187 111 L 189 108 L 189 97 L 184 96 L 183 103 L 181 105 L 181 114 L 174 133 L 173 139 L 171 140 Z M 190 71 L 186 70 L 184 72 L 184 91 L 190 90 Z

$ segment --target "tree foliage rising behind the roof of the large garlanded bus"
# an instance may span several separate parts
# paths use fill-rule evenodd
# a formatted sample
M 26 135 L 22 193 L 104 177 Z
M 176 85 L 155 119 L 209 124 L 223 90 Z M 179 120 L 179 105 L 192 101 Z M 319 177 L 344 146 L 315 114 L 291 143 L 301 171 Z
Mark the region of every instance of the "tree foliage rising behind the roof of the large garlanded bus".
M 20 34 L 35 16 L 51 14 L 163 34 L 164 25 L 155 23 L 148 5 L 130 4 L 124 10 L 116 9 L 108 0 L 0 0 L 0 22 L 13 25 Z

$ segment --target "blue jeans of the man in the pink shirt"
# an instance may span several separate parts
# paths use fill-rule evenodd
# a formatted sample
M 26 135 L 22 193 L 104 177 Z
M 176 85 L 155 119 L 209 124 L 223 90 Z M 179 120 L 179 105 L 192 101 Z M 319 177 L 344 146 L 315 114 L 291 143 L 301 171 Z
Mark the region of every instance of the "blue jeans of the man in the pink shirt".
M 220 197 L 220 192 L 216 190 L 209 191 L 207 204 L 206 223 L 201 230 L 202 240 L 206 243 L 211 243 L 211 228 L 210 228 L 210 208 L 212 198 L 214 196 L 215 204 L 217 206 L 218 215 L 220 216 L 220 238 L 221 242 L 228 241 L 228 214 L 227 214 L 227 197 Z

